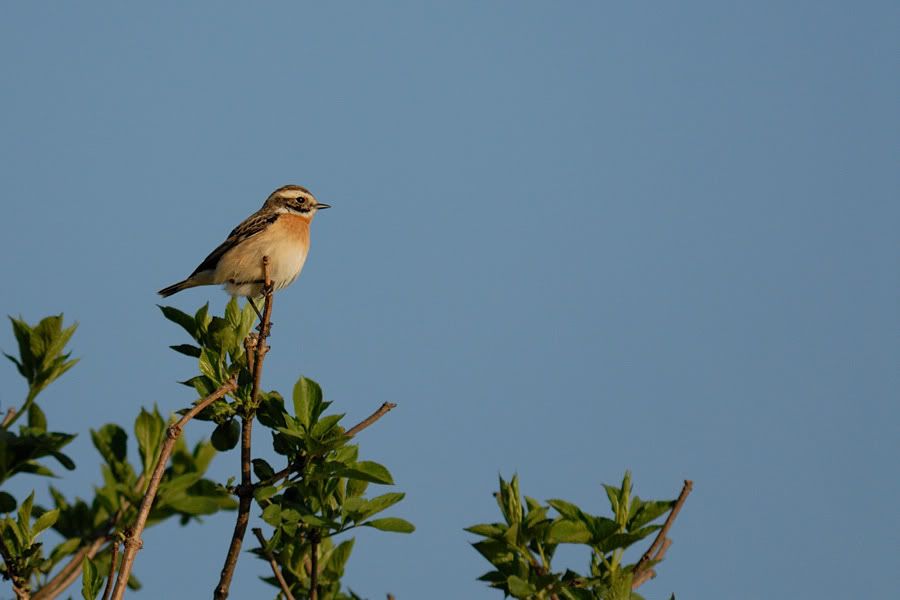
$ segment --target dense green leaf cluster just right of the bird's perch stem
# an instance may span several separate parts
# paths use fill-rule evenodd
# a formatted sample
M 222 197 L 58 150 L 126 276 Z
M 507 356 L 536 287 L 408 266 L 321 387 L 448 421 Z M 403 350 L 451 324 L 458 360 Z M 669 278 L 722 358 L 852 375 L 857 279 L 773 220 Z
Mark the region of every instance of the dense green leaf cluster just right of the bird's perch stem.
M 344 415 L 326 414 L 330 404 L 323 399 L 321 387 L 307 378 L 294 386 L 293 412 L 286 410 L 275 392 L 260 403 L 259 421 L 272 430 L 272 447 L 288 466 L 276 474 L 266 461 L 253 461 L 260 479 L 254 499 L 262 508 L 263 520 L 274 530 L 265 549 L 255 552 L 276 557 L 297 597 L 309 594 L 315 552 L 318 597 L 340 600 L 355 597 L 340 589 L 353 540 L 335 545 L 332 538 L 357 527 L 397 533 L 411 533 L 415 528 L 397 517 L 374 518 L 403 500 L 404 494 L 366 496 L 370 484 L 392 485 L 393 477 L 383 465 L 359 460 L 358 446 L 350 443 L 340 425 Z M 274 578 L 267 581 L 277 585 Z

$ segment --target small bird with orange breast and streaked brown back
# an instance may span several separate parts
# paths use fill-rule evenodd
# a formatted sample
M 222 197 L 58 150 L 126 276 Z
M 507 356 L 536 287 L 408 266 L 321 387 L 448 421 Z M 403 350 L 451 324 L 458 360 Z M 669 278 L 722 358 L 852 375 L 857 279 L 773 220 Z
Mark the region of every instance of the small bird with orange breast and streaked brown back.
M 223 284 L 229 294 L 247 296 L 252 301 L 262 294 L 265 283 L 263 256 L 269 257 L 269 278 L 274 288 L 287 287 L 306 262 L 309 224 L 323 208 L 330 206 L 318 202 L 304 187 L 278 188 L 187 279 L 159 290 L 159 295 L 165 298 L 198 285 Z

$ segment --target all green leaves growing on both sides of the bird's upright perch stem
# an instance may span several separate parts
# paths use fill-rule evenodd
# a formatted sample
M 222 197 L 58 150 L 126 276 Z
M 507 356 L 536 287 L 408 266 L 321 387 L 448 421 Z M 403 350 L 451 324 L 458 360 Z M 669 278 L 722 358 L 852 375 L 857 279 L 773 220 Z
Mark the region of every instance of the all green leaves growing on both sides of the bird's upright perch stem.
M 275 556 L 297 597 L 309 595 L 314 563 L 320 600 L 356 597 L 341 591 L 341 577 L 354 541 L 334 542 L 333 538 L 358 527 L 399 533 L 414 530 L 403 519 L 377 517 L 400 502 L 404 494 L 366 496 L 370 484 L 393 485 L 388 469 L 359 459 L 358 446 L 350 443 L 341 425 L 344 415 L 327 412 L 331 402 L 324 399 L 315 381 L 303 377 L 297 381 L 290 407 L 277 391 L 260 391 L 255 401 L 251 398 L 252 351 L 248 348 L 253 345 L 245 346 L 245 340 L 254 335 L 250 334 L 255 318 L 252 307 L 241 309 L 232 299 L 224 318 L 210 316 L 207 306 L 193 316 L 172 307 L 160 309 L 192 338 L 191 344 L 171 346 L 197 359 L 199 373 L 185 381 L 186 385 L 204 397 L 237 377 L 233 394 L 212 403 L 196 417 L 216 423 L 213 446 L 220 451 L 231 450 L 240 439 L 239 420 L 255 418 L 269 430 L 274 452 L 283 457 L 284 467 L 279 471 L 263 458 L 252 460 L 257 481 L 250 492 L 263 521 L 272 527 L 265 548 L 254 552 L 262 558 Z M 238 495 L 248 492 L 231 482 L 226 487 Z M 278 587 L 274 578 L 266 581 Z

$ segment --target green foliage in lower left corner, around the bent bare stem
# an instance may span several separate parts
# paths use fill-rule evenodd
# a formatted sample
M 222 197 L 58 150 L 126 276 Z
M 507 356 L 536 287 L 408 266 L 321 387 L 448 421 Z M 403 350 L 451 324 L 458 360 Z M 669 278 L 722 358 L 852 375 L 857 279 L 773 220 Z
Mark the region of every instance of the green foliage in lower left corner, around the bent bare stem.
M 53 458 L 64 468 L 75 469 L 75 463 L 61 452 L 61 448 L 76 436 L 48 431 L 47 418 L 36 400 L 47 385 L 77 362 L 65 350 L 76 325 L 64 327 L 62 315 L 47 317 L 34 326 L 22 319 L 11 321 L 19 353 L 18 356 L 6 356 L 25 378 L 28 393 L 21 409 L 15 413 L 10 411 L 9 414 L 14 416 L 0 427 L 0 485 L 19 473 L 54 476 L 53 471 L 41 462 L 43 458 Z M 23 414 L 28 416 L 27 422 L 18 427 L 18 432 L 11 431 L 15 417 Z M 157 409 L 141 409 L 134 424 L 134 436 L 142 471 L 152 468 L 166 426 Z M 83 559 L 89 560 L 86 554 L 95 554 L 90 562 L 105 574 L 109 550 L 101 547 L 131 522 L 140 504 L 146 482 L 128 461 L 125 430 L 115 424 L 106 424 L 91 431 L 91 441 L 102 459 L 102 483 L 94 487 L 90 501 L 69 500 L 50 486 L 53 507 L 47 509 L 34 503 L 34 492 L 19 504 L 12 494 L 0 491 L 0 513 L 7 514 L 0 520 L 3 542 L 0 572 L 24 593 L 39 588 L 39 592 L 53 597 L 61 591 L 51 592 L 42 586 L 53 582 L 45 581 L 46 576 L 70 557 L 80 563 Z M 189 449 L 183 439 L 177 442 L 171 465 L 163 475 L 150 524 L 173 517 L 186 524 L 202 515 L 236 507 L 236 501 L 222 486 L 204 478 L 215 453 L 210 442 L 200 442 L 193 449 Z M 17 508 L 16 518 L 9 516 Z M 53 529 L 63 539 L 45 556 L 39 536 L 48 529 Z M 129 585 L 137 588 L 140 584 L 132 578 Z

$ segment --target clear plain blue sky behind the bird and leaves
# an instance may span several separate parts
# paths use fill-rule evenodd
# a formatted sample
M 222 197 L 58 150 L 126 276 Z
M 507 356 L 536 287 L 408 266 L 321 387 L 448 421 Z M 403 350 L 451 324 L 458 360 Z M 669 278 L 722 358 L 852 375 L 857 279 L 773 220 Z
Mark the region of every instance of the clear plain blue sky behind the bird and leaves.
M 359 534 L 353 589 L 500 598 L 462 530 L 498 474 L 605 512 L 630 468 L 695 481 L 649 598 L 896 594 L 900 7 L 740 4 L 4 3 L 0 313 L 80 323 L 56 484 L 91 496 L 90 427 L 193 399 L 155 292 L 297 183 L 334 208 L 265 384 L 396 402 L 359 441 L 418 527 Z M 233 518 L 148 530 L 140 597 L 211 595 Z

